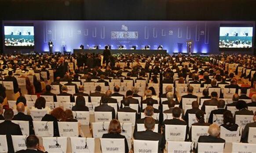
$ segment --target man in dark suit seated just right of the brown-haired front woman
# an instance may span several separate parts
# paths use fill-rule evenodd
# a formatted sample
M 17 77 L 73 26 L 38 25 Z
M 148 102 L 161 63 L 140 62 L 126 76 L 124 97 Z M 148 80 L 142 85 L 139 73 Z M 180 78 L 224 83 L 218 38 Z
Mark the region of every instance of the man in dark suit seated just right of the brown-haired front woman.
M 146 131 L 135 132 L 135 140 L 155 140 L 158 142 L 158 153 L 163 153 L 165 148 L 165 139 L 160 133 L 153 132 L 155 128 L 155 120 L 152 117 L 146 117 L 144 120 Z

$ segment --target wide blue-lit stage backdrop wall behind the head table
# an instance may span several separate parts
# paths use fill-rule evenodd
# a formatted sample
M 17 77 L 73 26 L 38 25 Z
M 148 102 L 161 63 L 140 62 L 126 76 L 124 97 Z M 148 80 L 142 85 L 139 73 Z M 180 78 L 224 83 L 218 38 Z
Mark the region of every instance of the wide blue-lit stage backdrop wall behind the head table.
M 73 52 L 81 44 L 84 48 L 111 45 L 117 49 L 123 45 L 127 49 L 136 46 L 137 49 L 150 45 L 150 49 L 157 49 L 159 45 L 168 53 L 187 53 L 187 41 L 194 43 L 194 53 L 218 54 L 220 25 L 250 25 L 255 27 L 254 21 L 3 21 L 3 37 L 13 35 L 7 33 L 5 26 L 33 26 L 34 35 L 31 47 L 7 46 L 3 41 L 4 53 L 30 53 L 49 51 L 48 41 L 51 39 L 53 51 Z M 5 31 L 6 30 L 6 31 Z M 9 29 L 10 30 L 10 29 Z M 17 31 L 13 31 L 14 34 Z M 23 31 L 22 31 L 23 32 Z M 21 32 L 21 33 L 22 33 Z M 25 32 L 28 33 L 28 32 Z M 252 35 L 254 34 L 254 29 Z M 4 40 L 3 38 L 3 40 Z M 252 37 L 253 44 L 253 37 Z M 226 51 L 227 53 L 249 53 L 251 50 Z

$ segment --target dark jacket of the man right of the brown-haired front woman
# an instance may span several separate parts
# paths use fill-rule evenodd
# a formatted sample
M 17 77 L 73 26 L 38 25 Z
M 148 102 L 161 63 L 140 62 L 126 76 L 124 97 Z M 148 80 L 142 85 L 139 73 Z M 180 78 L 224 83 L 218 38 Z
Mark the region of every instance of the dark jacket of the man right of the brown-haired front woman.
M 158 153 L 163 153 L 165 148 L 165 138 L 160 133 L 153 132 L 151 130 L 135 132 L 134 134 L 135 140 L 155 140 L 158 142 Z

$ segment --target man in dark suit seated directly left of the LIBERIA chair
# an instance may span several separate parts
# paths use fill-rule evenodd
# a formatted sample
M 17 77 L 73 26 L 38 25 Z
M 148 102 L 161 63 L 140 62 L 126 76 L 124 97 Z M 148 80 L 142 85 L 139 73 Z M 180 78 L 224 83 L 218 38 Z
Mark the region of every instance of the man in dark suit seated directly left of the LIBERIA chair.
M 108 97 L 106 95 L 103 95 L 101 97 L 101 105 L 95 107 L 94 111 L 112 112 L 112 119 L 116 118 L 115 109 L 111 106 L 108 106 L 107 103 L 108 103 Z

